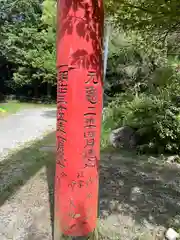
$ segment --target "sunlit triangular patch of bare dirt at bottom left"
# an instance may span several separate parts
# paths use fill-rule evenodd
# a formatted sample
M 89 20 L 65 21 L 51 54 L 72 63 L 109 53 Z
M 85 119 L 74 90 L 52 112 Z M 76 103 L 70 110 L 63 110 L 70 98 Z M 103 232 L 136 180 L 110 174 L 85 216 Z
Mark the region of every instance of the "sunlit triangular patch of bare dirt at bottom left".
M 0 240 L 52 240 L 46 169 L 0 206 Z

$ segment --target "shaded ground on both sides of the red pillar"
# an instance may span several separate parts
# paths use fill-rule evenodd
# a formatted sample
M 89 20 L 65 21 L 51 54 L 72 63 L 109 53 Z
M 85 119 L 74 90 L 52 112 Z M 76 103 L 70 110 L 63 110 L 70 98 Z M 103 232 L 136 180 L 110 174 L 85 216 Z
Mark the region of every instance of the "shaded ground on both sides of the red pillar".
M 0 162 L 0 206 L 42 167 L 46 167 L 52 230 L 54 219 L 55 155 L 42 146 L 55 143 L 47 135 Z M 180 169 L 164 165 L 157 158 L 130 153 L 101 154 L 100 218 L 113 214 L 131 216 L 137 223 L 169 225 L 180 212 Z

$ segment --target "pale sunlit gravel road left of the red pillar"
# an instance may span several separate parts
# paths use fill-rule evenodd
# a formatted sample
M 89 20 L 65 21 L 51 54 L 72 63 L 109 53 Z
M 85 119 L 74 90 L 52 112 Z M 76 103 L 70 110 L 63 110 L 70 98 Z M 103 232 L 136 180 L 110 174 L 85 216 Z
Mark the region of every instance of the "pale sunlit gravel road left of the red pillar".
M 39 139 L 45 131 L 55 129 L 56 110 L 41 108 L 20 111 L 0 119 L 0 161 L 14 148 Z

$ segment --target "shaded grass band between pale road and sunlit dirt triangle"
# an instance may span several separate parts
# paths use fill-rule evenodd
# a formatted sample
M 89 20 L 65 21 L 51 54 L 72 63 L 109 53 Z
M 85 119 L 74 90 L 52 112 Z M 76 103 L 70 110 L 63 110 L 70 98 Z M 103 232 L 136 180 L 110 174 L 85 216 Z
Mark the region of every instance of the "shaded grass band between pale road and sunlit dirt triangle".
M 0 206 L 43 166 L 49 167 L 49 160 L 45 161 L 40 148 L 46 145 L 50 138 L 55 139 L 54 133 L 19 151 L 12 152 L 0 162 Z

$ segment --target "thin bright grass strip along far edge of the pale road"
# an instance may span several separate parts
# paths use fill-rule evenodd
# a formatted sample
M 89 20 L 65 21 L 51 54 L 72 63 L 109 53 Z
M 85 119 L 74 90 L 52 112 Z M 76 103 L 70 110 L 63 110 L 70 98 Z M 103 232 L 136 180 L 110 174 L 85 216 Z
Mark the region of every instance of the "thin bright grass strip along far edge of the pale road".
M 0 103 L 0 117 L 14 114 L 22 109 L 40 108 L 40 107 L 55 107 L 55 104 L 41 104 L 41 103 L 21 103 L 18 101 L 8 101 Z

